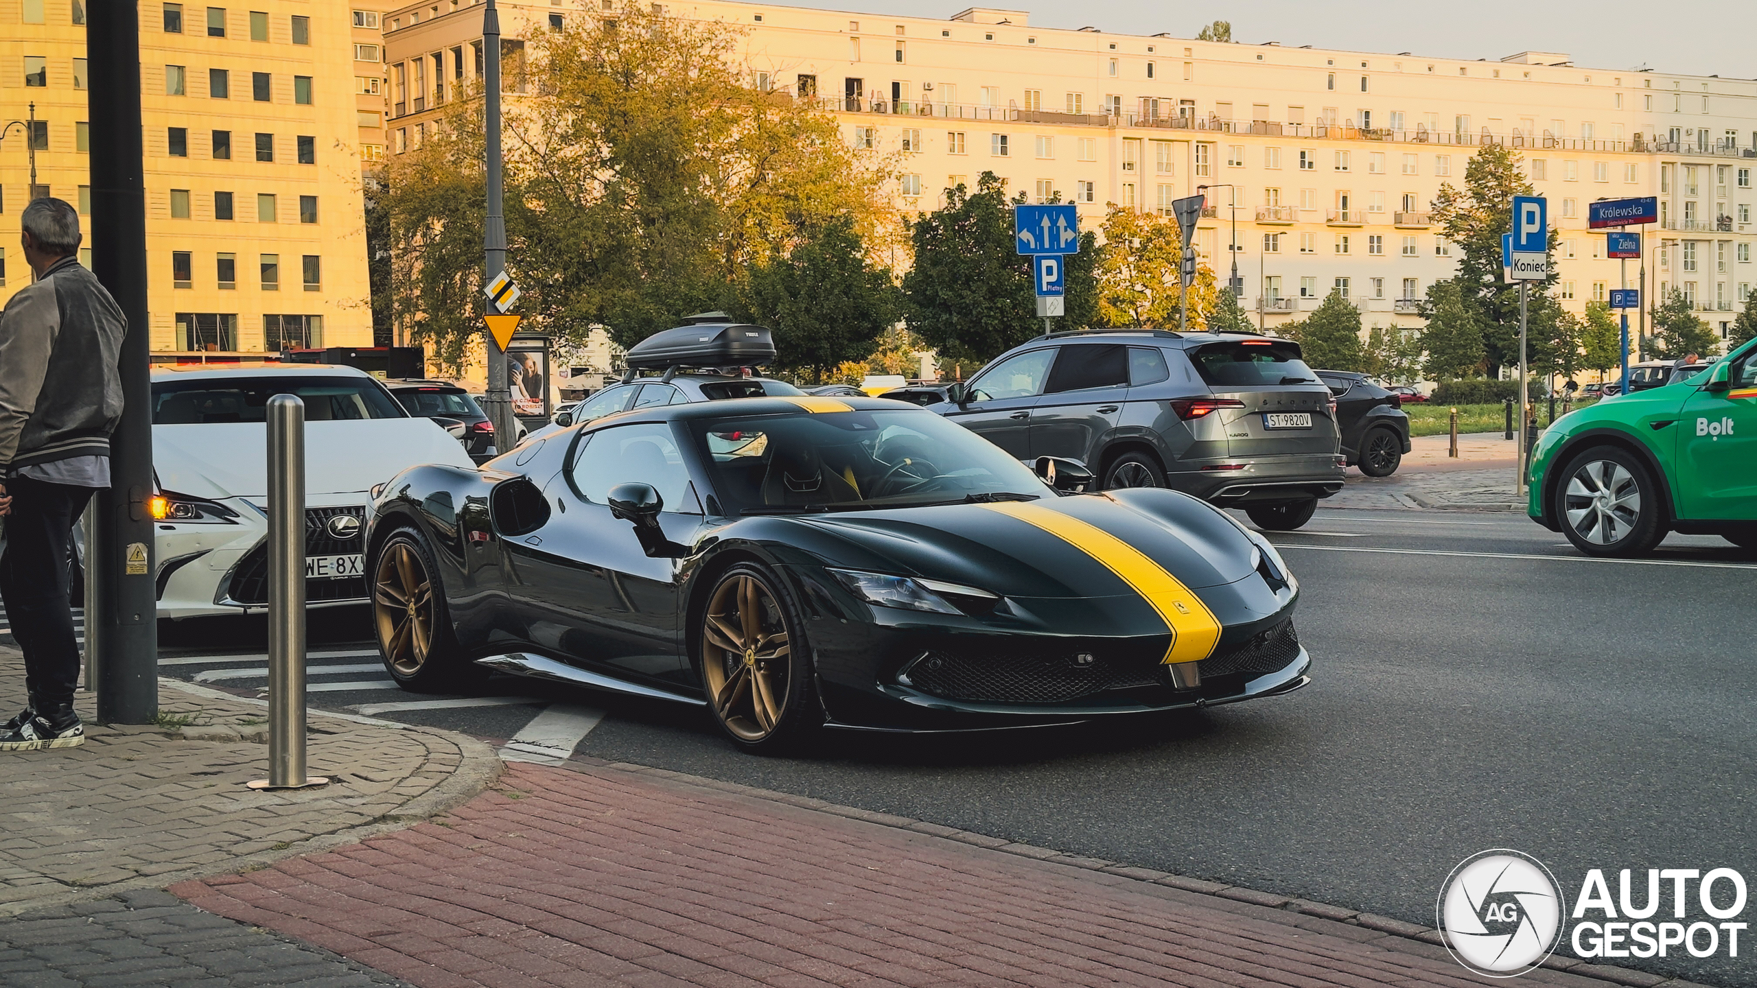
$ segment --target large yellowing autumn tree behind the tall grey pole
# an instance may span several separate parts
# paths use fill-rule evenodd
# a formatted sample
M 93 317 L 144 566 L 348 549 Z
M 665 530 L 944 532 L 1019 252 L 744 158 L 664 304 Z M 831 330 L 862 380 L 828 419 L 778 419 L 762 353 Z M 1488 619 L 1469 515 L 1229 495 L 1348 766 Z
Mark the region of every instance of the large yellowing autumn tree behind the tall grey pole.
M 836 120 L 764 93 L 741 32 L 643 7 L 527 37 L 508 70 L 508 269 L 531 329 L 629 346 L 676 318 L 731 308 L 745 269 L 845 216 L 866 246 L 894 234 L 887 162 Z M 397 316 L 443 366 L 478 339 L 483 301 L 481 100 L 462 93 L 422 148 L 397 155 L 385 204 Z

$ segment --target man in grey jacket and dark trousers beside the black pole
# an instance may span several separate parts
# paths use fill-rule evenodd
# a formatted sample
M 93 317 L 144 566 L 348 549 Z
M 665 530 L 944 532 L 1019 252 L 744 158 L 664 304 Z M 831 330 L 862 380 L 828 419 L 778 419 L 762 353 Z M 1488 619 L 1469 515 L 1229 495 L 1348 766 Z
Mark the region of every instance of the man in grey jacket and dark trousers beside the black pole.
M 116 360 L 128 331 L 116 299 L 79 265 L 79 213 L 37 199 L 21 223 L 37 281 L 0 313 L 0 599 L 25 652 L 30 701 L 0 726 L 0 751 L 84 742 L 74 714 L 69 545 L 91 490 L 109 487 L 109 438 L 121 418 Z

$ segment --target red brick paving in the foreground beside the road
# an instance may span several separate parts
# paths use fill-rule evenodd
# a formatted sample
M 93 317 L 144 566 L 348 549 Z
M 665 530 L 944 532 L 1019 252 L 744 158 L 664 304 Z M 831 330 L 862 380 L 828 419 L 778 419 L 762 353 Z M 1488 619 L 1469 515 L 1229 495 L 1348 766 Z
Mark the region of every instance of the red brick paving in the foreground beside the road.
M 420 988 L 1486 983 L 1395 919 L 638 766 L 513 765 L 432 823 L 170 891 Z M 1555 963 L 1522 983 L 1660 981 Z

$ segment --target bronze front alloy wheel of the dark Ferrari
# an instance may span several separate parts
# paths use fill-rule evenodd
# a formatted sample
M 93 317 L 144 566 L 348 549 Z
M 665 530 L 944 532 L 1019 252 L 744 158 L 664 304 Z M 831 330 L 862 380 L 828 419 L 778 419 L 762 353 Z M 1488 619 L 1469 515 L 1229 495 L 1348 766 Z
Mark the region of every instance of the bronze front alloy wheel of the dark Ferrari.
M 726 577 L 708 599 L 701 642 L 701 677 L 726 730 L 747 742 L 775 733 L 796 666 L 775 591 L 747 571 Z

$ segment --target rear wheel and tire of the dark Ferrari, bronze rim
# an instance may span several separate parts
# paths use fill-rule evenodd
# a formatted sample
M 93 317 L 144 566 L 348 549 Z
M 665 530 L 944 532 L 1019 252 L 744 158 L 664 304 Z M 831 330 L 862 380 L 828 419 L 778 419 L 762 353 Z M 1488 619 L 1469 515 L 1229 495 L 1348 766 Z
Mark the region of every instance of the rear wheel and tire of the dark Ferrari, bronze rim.
M 415 529 L 399 529 L 367 566 L 372 631 L 385 672 L 411 693 L 467 693 L 488 670 L 464 656 L 452 631 L 445 584 Z

